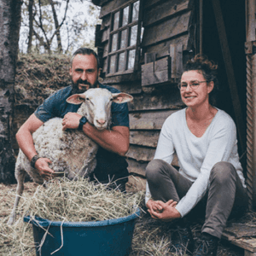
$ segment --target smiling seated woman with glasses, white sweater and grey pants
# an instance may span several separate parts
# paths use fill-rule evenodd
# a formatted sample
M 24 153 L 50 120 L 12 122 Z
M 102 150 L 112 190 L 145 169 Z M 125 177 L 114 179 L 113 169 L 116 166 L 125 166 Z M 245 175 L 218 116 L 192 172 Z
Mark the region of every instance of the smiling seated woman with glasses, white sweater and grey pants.
M 178 255 L 217 255 L 231 211 L 247 209 L 236 126 L 227 113 L 212 106 L 216 70 L 206 56 L 188 61 L 178 86 L 187 108 L 166 119 L 154 160 L 146 169 L 146 205 L 151 217 L 178 219 L 177 227 L 182 227 L 183 233 L 179 230 L 172 237 L 171 252 Z M 171 166 L 175 153 L 178 171 Z M 195 247 L 188 220 L 200 213 L 205 221 Z

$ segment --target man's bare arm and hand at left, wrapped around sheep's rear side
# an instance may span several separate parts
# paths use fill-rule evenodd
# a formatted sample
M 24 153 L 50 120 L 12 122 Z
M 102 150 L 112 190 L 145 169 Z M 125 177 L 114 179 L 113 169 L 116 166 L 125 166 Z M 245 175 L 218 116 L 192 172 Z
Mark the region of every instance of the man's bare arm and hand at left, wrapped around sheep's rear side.
M 34 147 L 32 133 L 37 131 L 38 128 L 43 124 L 44 122 L 38 119 L 34 113 L 32 113 L 32 115 L 23 125 L 21 125 L 19 131 L 16 133 L 16 140 L 19 147 L 30 161 L 34 155 L 38 154 L 36 148 Z M 39 174 L 45 178 L 50 177 L 54 172 L 49 168 L 48 163 L 50 163 L 49 159 L 39 158 L 35 164 Z

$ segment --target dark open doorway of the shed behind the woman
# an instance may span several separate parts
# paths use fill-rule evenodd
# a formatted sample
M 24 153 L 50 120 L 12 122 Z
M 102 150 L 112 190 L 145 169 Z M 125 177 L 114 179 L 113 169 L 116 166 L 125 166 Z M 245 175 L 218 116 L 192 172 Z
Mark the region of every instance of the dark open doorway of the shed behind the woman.
M 220 44 L 221 37 L 218 34 L 218 27 L 212 8 L 212 1 L 203 1 L 202 50 L 204 54 L 208 55 L 209 59 L 218 63 L 218 80 L 220 90 L 218 93 L 218 102 L 216 107 L 229 113 L 236 122 L 234 105 L 230 96 L 230 86 L 228 84 L 224 57 Z M 225 32 L 230 49 L 231 61 L 234 68 L 236 87 L 241 103 L 242 120 L 244 122 L 244 127 L 246 127 L 246 55 L 244 51 L 244 44 L 246 42 L 245 1 L 218 1 L 220 3 L 221 13 L 224 19 Z M 236 124 L 236 127 L 238 125 L 239 124 Z M 242 139 L 245 143 L 246 131 L 242 131 Z M 241 163 L 245 170 L 246 154 L 245 152 L 241 151 L 240 141 L 238 143 L 238 147 L 240 157 L 242 156 Z

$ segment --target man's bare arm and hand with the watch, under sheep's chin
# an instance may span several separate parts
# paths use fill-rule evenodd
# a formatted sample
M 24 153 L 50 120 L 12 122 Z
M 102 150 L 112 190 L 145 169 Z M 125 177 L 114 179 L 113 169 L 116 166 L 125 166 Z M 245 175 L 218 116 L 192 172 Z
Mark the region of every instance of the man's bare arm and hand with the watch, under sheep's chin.
M 79 113 L 67 113 L 63 119 L 63 130 L 77 129 L 79 127 Z M 112 130 L 97 130 L 95 126 L 88 122 L 83 126 L 84 134 L 99 144 L 102 148 L 125 155 L 129 149 L 130 131 L 126 126 L 113 126 Z

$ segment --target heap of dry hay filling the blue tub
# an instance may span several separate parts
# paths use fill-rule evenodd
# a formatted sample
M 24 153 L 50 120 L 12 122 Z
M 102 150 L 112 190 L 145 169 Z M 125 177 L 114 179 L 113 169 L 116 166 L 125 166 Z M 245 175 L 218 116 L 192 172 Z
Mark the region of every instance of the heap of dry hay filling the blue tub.
M 124 194 L 102 183 L 63 177 L 47 183 L 47 189 L 39 186 L 22 208 L 31 217 L 52 221 L 100 221 L 128 216 L 136 212 L 142 200 L 143 193 Z

